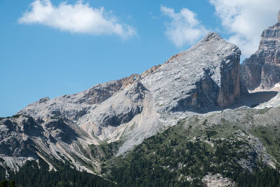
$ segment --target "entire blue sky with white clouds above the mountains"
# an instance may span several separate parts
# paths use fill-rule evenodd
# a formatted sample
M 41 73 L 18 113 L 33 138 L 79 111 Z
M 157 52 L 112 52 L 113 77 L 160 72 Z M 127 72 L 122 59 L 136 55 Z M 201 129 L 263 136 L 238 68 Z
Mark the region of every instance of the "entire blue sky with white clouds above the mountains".
M 0 116 L 141 74 L 209 31 L 247 57 L 276 22 L 280 2 L 268 1 L 1 0 Z

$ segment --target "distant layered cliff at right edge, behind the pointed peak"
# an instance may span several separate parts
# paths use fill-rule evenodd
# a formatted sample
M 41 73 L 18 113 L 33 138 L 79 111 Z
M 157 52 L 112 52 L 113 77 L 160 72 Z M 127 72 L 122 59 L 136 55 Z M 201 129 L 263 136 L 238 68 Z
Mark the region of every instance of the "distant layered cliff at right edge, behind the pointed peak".
M 262 32 L 258 51 L 241 64 L 241 81 L 248 90 L 280 82 L 280 12 L 278 22 Z

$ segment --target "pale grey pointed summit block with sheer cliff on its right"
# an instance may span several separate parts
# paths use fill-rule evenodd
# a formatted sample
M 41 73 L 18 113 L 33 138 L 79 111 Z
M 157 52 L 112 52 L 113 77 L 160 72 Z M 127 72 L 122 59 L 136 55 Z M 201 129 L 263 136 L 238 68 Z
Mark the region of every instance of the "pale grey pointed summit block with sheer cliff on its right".
M 240 96 L 237 46 L 209 33 L 141 82 L 160 112 L 230 106 Z

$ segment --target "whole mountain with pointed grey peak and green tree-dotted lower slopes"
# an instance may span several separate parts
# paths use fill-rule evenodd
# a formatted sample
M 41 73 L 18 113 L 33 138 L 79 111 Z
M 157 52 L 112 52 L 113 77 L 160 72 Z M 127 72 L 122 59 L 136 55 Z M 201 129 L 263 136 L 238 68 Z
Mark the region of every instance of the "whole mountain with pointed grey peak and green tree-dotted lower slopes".
M 240 78 L 240 55 L 209 33 L 142 74 L 0 118 L 0 179 L 20 183 L 33 168 L 46 175 L 36 179 L 41 186 L 66 168 L 111 186 L 280 184 L 279 95 L 255 102 Z M 57 178 L 50 186 L 71 175 Z

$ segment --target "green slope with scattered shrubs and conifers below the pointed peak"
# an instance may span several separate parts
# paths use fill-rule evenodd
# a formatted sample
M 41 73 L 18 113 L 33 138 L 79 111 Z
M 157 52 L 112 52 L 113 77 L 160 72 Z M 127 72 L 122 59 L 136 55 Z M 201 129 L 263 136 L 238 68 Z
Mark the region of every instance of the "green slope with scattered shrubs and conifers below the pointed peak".
M 253 114 L 244 116 L 251 120 Z M 216 124 L 197 116 L 183 120 L 144 140 L 125 157 L 105 162 L 102 172 L 120 186 L 203 186 L 207 174 L 221 174 L 237 186 L 280 186 L 279 172 L 262 162 L 242 125 L 225 118 Z M 269 139 L 264 138 L 263 145 Z

